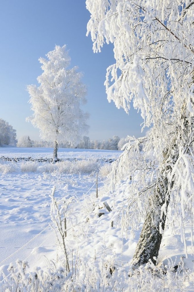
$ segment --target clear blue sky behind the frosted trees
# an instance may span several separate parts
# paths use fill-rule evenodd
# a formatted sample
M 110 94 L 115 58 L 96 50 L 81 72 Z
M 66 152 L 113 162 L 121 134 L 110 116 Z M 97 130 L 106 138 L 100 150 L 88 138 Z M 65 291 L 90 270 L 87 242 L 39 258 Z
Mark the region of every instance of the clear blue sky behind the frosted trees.
M 83 72 L 88 88 L 89 112 L 87 136 L 103 140 L 117 135 L 142 136 L 142 119 L 134 109 L 127 115 L 109 103 L 105 92 L 106 68 L 115 62 L 112 45 L 94 54 L 86 26 L 90 18 L 84 0 L 2 0 L 0 9 L 0 118 L 17 131 L 17 138 L 29 135 L 40 140 L 39 130 L 26 117 L 31 116 L 26 85 L 38 84 L 42 74 L 39 57 L 45 57 L 55 45 L 67 45 L 71 67 Z

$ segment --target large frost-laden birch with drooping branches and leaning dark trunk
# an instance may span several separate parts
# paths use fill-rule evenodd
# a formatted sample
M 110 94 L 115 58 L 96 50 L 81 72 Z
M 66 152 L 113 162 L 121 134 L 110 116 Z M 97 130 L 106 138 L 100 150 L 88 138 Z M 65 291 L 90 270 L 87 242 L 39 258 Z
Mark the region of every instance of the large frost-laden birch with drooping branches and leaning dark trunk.
M 117 172 L 133 173 L 135 159 L 142 159 L 128 212 L 137 214 L 142 202 L 146 207 L 134 268 L 149 259 L 156 263 L 172 201 L 183 233 L 186 213 L 193 220 L 193 4 L 193 0 L 86 0 L 91 13 L 87 34 L 91 33 L 94 52 L 100 52 L 104 43 L 114 46 L 115 64 L 107 68 L 105 81 L 108 100 L 127 113 L 132 102 L 144 119 L 143 128 L 150 128 L 147 138 L 126 147 L 117 165 Z M 151 166 L 150 149 L 155 161 Z

